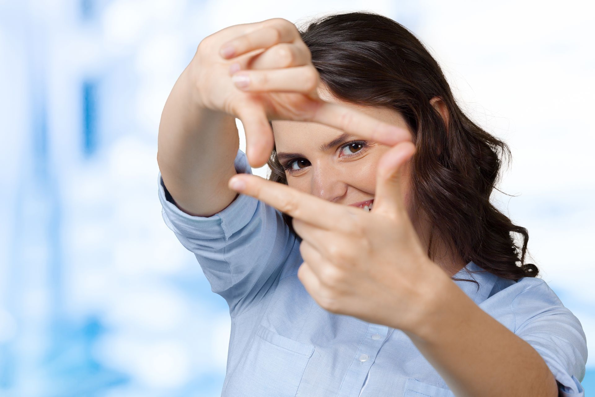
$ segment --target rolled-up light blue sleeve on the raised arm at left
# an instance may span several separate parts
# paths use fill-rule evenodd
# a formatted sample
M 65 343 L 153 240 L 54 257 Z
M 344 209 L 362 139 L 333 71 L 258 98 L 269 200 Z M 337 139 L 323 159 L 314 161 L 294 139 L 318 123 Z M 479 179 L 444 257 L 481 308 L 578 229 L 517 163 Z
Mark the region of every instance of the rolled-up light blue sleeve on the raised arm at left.
M 234 166 L 238 173 L 252 173 L 240 150 Z M 170 201 L 161 172 L 158 186 L 165 224 L 195 254 L 212 292 L 226 299 L 230 315 L 258 303 L 273 285 L 295 242 L 281 212 L 240 194 L 217 214 L 193 216 Z

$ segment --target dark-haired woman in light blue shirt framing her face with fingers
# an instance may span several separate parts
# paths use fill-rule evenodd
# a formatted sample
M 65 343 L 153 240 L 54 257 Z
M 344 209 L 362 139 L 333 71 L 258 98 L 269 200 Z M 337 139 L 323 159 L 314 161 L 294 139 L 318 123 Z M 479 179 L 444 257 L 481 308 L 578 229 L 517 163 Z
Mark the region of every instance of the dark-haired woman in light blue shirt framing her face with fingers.
M 165 104 L 158 182 L 230 307 L 223 395 L 584 395 L 580 321 L 489 201 L 506 154 L 389 18 L 206 37 Z M 236 176 L 248 158 L 270 180 Z

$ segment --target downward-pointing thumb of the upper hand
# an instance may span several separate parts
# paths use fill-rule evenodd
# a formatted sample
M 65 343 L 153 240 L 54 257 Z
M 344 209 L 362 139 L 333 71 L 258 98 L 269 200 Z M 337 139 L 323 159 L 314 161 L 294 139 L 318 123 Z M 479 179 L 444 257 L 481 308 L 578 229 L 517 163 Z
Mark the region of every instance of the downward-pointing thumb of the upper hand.
M 267 164 L 273 152 L 273 130 L 268 123 L 267 112 L 261 105 L 245 101 L 236 111 L 246 134 L 246 157 L 250 167 L 258 168 Z

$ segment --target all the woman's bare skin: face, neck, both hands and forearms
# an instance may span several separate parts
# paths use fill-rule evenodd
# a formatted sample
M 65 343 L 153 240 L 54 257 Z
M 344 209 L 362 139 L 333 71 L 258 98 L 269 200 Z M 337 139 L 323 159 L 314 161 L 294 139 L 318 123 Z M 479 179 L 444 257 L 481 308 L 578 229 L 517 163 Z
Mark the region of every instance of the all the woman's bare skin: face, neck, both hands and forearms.
M 229 54 L 219 52 L 225 46 L 231 47 Z M 255 56 L 248 54 L 261 49 Z M 239 76 L 250 77 L 250 82 L 236 82 L 236 90 L 231 77 Z M 267 120 L 274 118 L 278 151 L 301 152 L 311 169 L 289 177 L 289 186 L 240 174 L 231 177 L 228 187 L 292 215 L 296 233 L 303 238 L 304 262 L 297 276 L 322 308 L 402 329 L 456 396 L 558 395 L 540 355 L 447 277 L 465 265 L 461 258 L 452 257 L 440 244 L 434 261 L 425 255 L 428 224 L 423 213 L 411 211 L 409 202 L 406 161 L 414 146 L 403 142 L 403 128 L 390 127 L 406 127 L 400 115 L 353 104 L 344 105 L 364 114 L 338 107 L 324 87 L 318 93 L 327 102 L 320 102 L 314 95 L 317 79 L 309 51 L 290 21 L 241 24 L 206 37 L 170 95 L 160 124 L 159 168 L 173 196 L 196 214 L 208 216 L 223 208 L 234 193 L 221 199 L 213 192 L 221 190 L 218 181 L 234 171 L 229 159 L 236 152 L 237 132 L 235 123 L 227 126 L 215 114 L 240 118 L 252 167 L 264 165 L 270 154 L 273 139 Z M 251 90 L 259 94 L 248 95 Z M 446 120 L 441 102 L 433 99 L 432 104 Z M 212 145 L 203 145 L 205 136 L 198 133 L 203 130 L 211 131 L 212 139 L 207 140 Z M 217 135 L 220 131 L 227 133 Z M 350 160 L 339 158 L 332 150 L 337 148 L 318 151 L 343 131 L 395 146 L 373 145 Z M 223 146 L 226 151 L 211 150 Z M 205 157 L 196 156 L 197 148 L 207 148 L 205 155 L 211 158 L 196 163 L 196 158 Z M 209 169 L 218 174 L 205 188 L 209 181 L 193 178 L 214 174 Z M 244 187 L 233 186 L 238 181 L 245 182 Z M 199 190 L 217 201 L 200 204 L 205 197 Z M 372 197 L 374 209 L 369 213 L 346 205 Z

